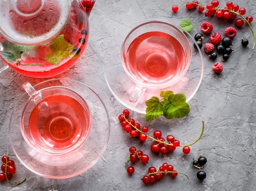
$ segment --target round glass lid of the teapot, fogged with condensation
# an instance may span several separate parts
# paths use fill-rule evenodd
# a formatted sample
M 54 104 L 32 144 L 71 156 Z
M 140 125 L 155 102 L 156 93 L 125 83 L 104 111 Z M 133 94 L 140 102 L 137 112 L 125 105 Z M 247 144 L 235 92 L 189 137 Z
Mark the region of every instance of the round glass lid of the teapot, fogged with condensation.
M 70 11 L 70 0 L 0 0 L 0 34 L 17 44 L 45 43 L 62 31 Z

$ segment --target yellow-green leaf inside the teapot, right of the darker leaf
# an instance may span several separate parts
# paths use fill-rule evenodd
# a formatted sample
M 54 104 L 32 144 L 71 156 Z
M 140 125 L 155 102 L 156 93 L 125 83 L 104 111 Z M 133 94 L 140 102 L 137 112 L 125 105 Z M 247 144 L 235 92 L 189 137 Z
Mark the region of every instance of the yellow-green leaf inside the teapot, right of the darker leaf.
M 67 59 L 70 57 L 74 46 L 65 40 L 64 35 L 59 35 L 52 41 L 50 45 L 52 53 L 47 55 L 45 59 L 56 66 L 61 64 L 61 59 Z

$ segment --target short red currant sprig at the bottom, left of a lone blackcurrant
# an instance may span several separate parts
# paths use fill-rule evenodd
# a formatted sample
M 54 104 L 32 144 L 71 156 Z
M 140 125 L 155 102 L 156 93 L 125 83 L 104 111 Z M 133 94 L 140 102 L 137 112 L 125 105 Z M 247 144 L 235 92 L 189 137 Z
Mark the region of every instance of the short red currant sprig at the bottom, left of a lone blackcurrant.
M 162 164 L 161 167 L 159 167 L 158 171 L 155 167 L 149 167 L 148 173 L 146 173 L 143 176 L 142 181 L 145 184 L 153 183 L 156 180 L 162 179 L 164 174 L 165 175 L 170 174 L 171 177 L 176 177 L 178 175 L 178 173 L 181 173 L 181 172 L 177 172 L 177 171 L 173 170 L 173 165 L 169 165 L 167 162 L 165 162 L 164 164 Z M 186 174 L 184 174 L 184 173 L 181 173 L 181 174 L 186 176 Z M 186 177 L 189 178 L 188 176 L 186 176 Z

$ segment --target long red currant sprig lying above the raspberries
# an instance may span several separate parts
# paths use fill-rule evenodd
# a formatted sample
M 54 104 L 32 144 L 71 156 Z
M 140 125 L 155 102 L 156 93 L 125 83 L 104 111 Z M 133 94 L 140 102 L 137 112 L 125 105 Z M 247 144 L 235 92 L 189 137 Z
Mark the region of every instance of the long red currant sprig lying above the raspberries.
M 224 18 L 224 19 L 231 19 L 235 20 L 236 26 L 243 26 L 244 23 L 246 22 L 252 31 L 252 35 L 254 38 L 254 45 L 252 50 L 254 49 L 255 46 L 255 37 L 254 37 L 254 32 L 252 30 L 252 26 L 250 23 L 253 20 L 252 15 L 247 15 L 244 17 L 246 13 L 245 8 L 240 8 L 238 4 L 233 4 L 233 2 L 229 1 L 226 3 L 225 8 L 218 8 L 219 7 L 219 1 L 218 0 L 212 0 L 211 3 L 208 3 L 206 6 L 203 6 L 198 3 L 197 0 L 194 0 L 192 2 L 184 2 L 180 6 L 173 5 L 172 10 L 173 12 L 177 12 L 179 7 L 181 7 L 183 4 L 186 4 L 186 9 L 196 9 L 198 7 L 199 12 L 204 12 L 204 15 L 207 17 L 210 17 L 212 15 L 216 15 L 217 18 Z M 240 18 L 237 18 L 239 16 Z

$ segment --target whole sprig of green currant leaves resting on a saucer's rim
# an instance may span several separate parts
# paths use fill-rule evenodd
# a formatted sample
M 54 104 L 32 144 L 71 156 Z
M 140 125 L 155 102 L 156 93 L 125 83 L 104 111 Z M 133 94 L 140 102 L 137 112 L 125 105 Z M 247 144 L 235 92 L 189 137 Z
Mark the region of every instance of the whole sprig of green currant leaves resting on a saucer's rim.
M 162 91 L 158 97 L 151 97 L 146 101 L 146 121 L 152 121 L 159 115 L 166 119 L 182 118 L 189 114 L 190 107 L 186 103 L 185 94 L 173 94 L 172 91 Z

